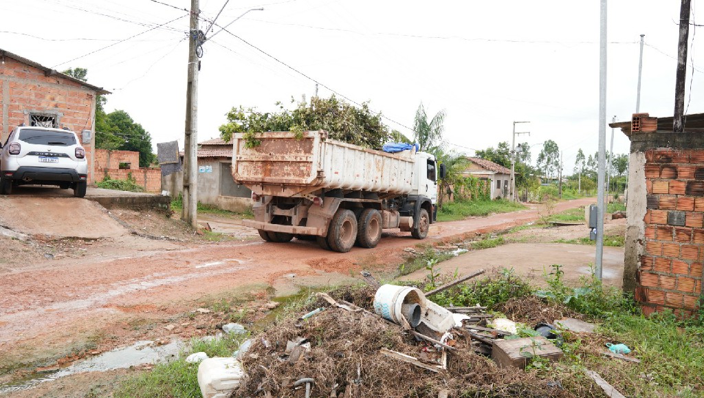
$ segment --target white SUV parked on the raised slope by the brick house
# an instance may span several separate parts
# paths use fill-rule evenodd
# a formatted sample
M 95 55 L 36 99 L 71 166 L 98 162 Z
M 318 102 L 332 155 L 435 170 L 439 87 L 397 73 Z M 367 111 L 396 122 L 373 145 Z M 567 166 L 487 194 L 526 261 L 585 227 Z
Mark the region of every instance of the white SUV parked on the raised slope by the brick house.
M 58 128 L 19 126 L 8 136 L 0 154 L 0 194 L 25 184 L 73 188 L 86 194 L 88 162 L 75 132 Z

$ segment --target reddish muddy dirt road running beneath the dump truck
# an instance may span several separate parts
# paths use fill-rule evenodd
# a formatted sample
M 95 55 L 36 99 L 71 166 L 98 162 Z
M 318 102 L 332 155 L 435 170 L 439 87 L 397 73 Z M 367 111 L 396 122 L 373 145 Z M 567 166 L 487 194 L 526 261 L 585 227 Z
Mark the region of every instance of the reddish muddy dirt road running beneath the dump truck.
M 593 202 L 563 202 L 554 211 Z M 144 238 L 101 256 L 3 264 L 0 366 L 51 363 L 86 342 L 102 350 L 144 337 L 202 334 L 188 323 L 172 330 L 163 325 L 194 310 L 207 297 L 265 294 L 271 287 L 285 295 L 300 286 L 335 285 L 364 268 L 379 272 L 396 268 L 406 247 L 503 230 L 538 217 L 538 211 L 527 210 L 438 223 L 425 241 L 392 233 L 375 249 L 353 248 L 345 254 L 298 240 L 183 247 Z M 149 328 L 139 327 L 149 322 L 153 324 Z

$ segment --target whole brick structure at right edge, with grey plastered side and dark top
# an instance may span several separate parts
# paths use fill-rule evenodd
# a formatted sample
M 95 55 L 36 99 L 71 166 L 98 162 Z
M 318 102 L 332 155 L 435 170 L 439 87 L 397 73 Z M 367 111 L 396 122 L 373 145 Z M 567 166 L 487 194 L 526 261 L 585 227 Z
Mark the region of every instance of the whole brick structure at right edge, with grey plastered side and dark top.
M 623 286 L 649 314 L 689 315 L 701 305 L 704 262 L 704 113 L 636 113 L 612 123 L 631 140 Z

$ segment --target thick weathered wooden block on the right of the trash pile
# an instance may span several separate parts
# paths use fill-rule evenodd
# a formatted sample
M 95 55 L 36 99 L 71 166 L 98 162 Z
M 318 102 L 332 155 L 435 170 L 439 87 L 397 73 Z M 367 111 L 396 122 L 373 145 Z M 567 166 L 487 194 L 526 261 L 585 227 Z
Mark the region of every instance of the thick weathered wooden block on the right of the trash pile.
M 555 344 L 543 336 L 494 340 L 493 343 L 491 359 L 494 359 L 494 362 L 503 368 L 525 368 L 528 358 L 522 354 L 523 352 L 541 356 L 550 361 L 558 361 L 562 358 L 562 350 L 555 347 Z

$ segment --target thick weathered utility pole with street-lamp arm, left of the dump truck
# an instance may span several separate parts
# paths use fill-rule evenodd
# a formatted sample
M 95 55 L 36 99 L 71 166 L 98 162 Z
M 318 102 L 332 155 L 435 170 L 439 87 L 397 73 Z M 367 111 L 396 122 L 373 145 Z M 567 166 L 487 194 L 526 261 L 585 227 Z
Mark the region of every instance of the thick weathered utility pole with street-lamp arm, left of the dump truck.
M 186 137 L 183 160 L 183 209 L 181 218 L 198 227 L 198 70 L 203 32 L 198 27 L 199 0 L 191 0 L 191 28 L 188 44 L 186 87 Z M 202 54 L 201 54 L 202 55 Z

